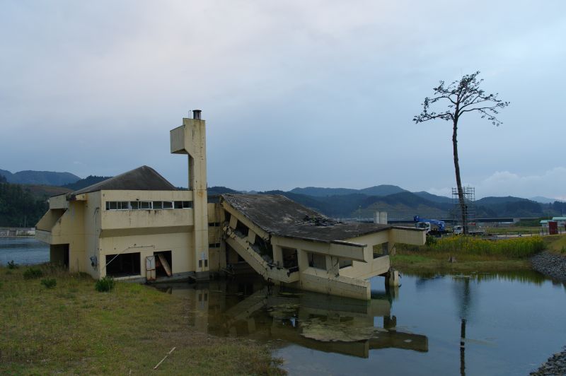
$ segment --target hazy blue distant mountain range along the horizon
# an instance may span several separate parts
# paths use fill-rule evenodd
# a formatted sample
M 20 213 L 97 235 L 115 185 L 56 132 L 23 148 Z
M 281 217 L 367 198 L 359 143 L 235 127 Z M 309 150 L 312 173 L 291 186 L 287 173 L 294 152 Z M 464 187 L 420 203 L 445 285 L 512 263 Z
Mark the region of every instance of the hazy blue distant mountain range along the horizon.
M 72 192 L 96 184 L 109 177 L 90 175 L 81 179 L 69 172 L 0 170 L 10 183 L 28 184 L 37 199 Z M 209 187 L 209 195 L 238 192 L 228 187 Z M 453 200 L 429 192 L 409 192 L 396 185 L 382 184 L 364 189 L 305 187 L 289 192 L 242 192 L 247 194 L 282 194 L 305 206 L 335 218 L 371 218 L 375 211 L 387 211 L 389 218 L 451 218 Z M 543 217 L 566 213 L 566 203 L 541 196 L 484 197 L 475 201 L 476 218 L 485 217 Z

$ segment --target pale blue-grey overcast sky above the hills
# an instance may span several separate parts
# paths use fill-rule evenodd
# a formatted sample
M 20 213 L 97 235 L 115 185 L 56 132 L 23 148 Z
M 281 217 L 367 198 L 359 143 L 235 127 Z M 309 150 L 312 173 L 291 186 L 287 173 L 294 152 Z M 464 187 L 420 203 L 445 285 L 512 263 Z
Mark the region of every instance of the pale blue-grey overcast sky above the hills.
M 482 196 L 566 199 L 566 1 L 0 1 L 0 169 L 187 185 L 169 130 L 207 120 L 208 184 L 449 194 L 439 80 L 511 102 L 461 119 Z

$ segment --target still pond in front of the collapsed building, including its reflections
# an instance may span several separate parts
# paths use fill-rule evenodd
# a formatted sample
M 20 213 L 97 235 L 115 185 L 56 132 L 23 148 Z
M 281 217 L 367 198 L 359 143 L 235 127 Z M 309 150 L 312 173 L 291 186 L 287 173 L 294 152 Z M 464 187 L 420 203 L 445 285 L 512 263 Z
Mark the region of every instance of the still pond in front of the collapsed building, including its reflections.
M 403 276 L 370 302 L 258 280 L 160 286 L 188 324 L 270 342 L 291 375 L 526 375 L 566 345 L 566 288 L 535 272 Z

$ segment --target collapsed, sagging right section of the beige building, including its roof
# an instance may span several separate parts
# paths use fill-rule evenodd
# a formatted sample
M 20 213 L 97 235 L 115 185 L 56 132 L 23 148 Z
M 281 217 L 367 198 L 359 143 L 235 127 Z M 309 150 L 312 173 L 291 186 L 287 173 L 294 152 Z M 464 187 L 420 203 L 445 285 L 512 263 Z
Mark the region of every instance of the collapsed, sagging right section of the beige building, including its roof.
M 267 281 L 318 293 L 369 300 L 369 278 L 389 274 L 395 243 L 425 240 L 420 229 L 334 221 L 280 195 L 224 194 L 219 205 L 226 252 Z

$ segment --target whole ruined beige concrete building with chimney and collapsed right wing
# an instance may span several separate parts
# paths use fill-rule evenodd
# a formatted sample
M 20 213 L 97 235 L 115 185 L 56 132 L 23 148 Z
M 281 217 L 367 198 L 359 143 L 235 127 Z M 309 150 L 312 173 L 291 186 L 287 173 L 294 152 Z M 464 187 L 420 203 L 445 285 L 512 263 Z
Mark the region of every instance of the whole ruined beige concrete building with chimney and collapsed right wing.
M 253 271 L 275 284 L 369 300 L 395 244 L 424 244 L 424 231 L 342 223 L 279 195 L 207 196 L 206 129 L 200 110 L 170 132 L 188 156 L 188 190 L 142 166 L 50 198 L 36 237 L 51 262 L 93 278 L 170 281 Z

